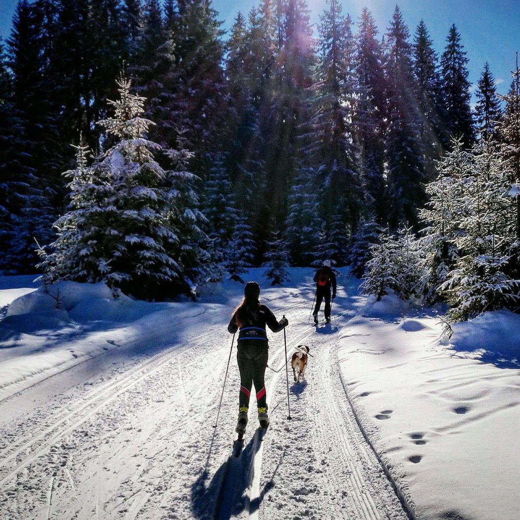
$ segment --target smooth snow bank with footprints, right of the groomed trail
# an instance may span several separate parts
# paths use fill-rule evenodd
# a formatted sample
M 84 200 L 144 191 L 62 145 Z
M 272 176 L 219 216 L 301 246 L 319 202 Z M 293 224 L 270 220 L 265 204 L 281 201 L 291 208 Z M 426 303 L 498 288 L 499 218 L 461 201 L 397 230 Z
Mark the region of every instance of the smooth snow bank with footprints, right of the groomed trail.
M 418 518 L 516 519 L 520 316 L 459 323 L 448 343 L 433 309 L 403 309 L 369 299 L 340 331 L 363 428 Z

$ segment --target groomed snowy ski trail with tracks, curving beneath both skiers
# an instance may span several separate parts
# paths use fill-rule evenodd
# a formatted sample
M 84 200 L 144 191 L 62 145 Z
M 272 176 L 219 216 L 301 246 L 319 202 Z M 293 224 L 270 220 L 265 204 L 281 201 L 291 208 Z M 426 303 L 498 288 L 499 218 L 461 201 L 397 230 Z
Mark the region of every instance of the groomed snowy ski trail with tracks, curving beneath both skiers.
M 284 297 L 265 292 L 289 318 L 289 354 L 304 343 L 314 357 L 307 382 L 290 382 L 292 421 L 285 371 L 268 370 L 271 427 L 260 443 L 251 414 L 240 459 L 230 460 L 236 350 L 212 427 L 231 342 L 230 308 L 215 306 L 170 348 L 124 361 L 108 352 L 96 370 L 82 363 L 0 403 L 0 516 L 406 518 L 340 380 L 337 330 L 356 291 L 340 290 L 336 323 L 317 330 L 307 323 L 312 294 L 308 280 Z M 283 333 L 271 334 L 269 365 L 284 358 Z

